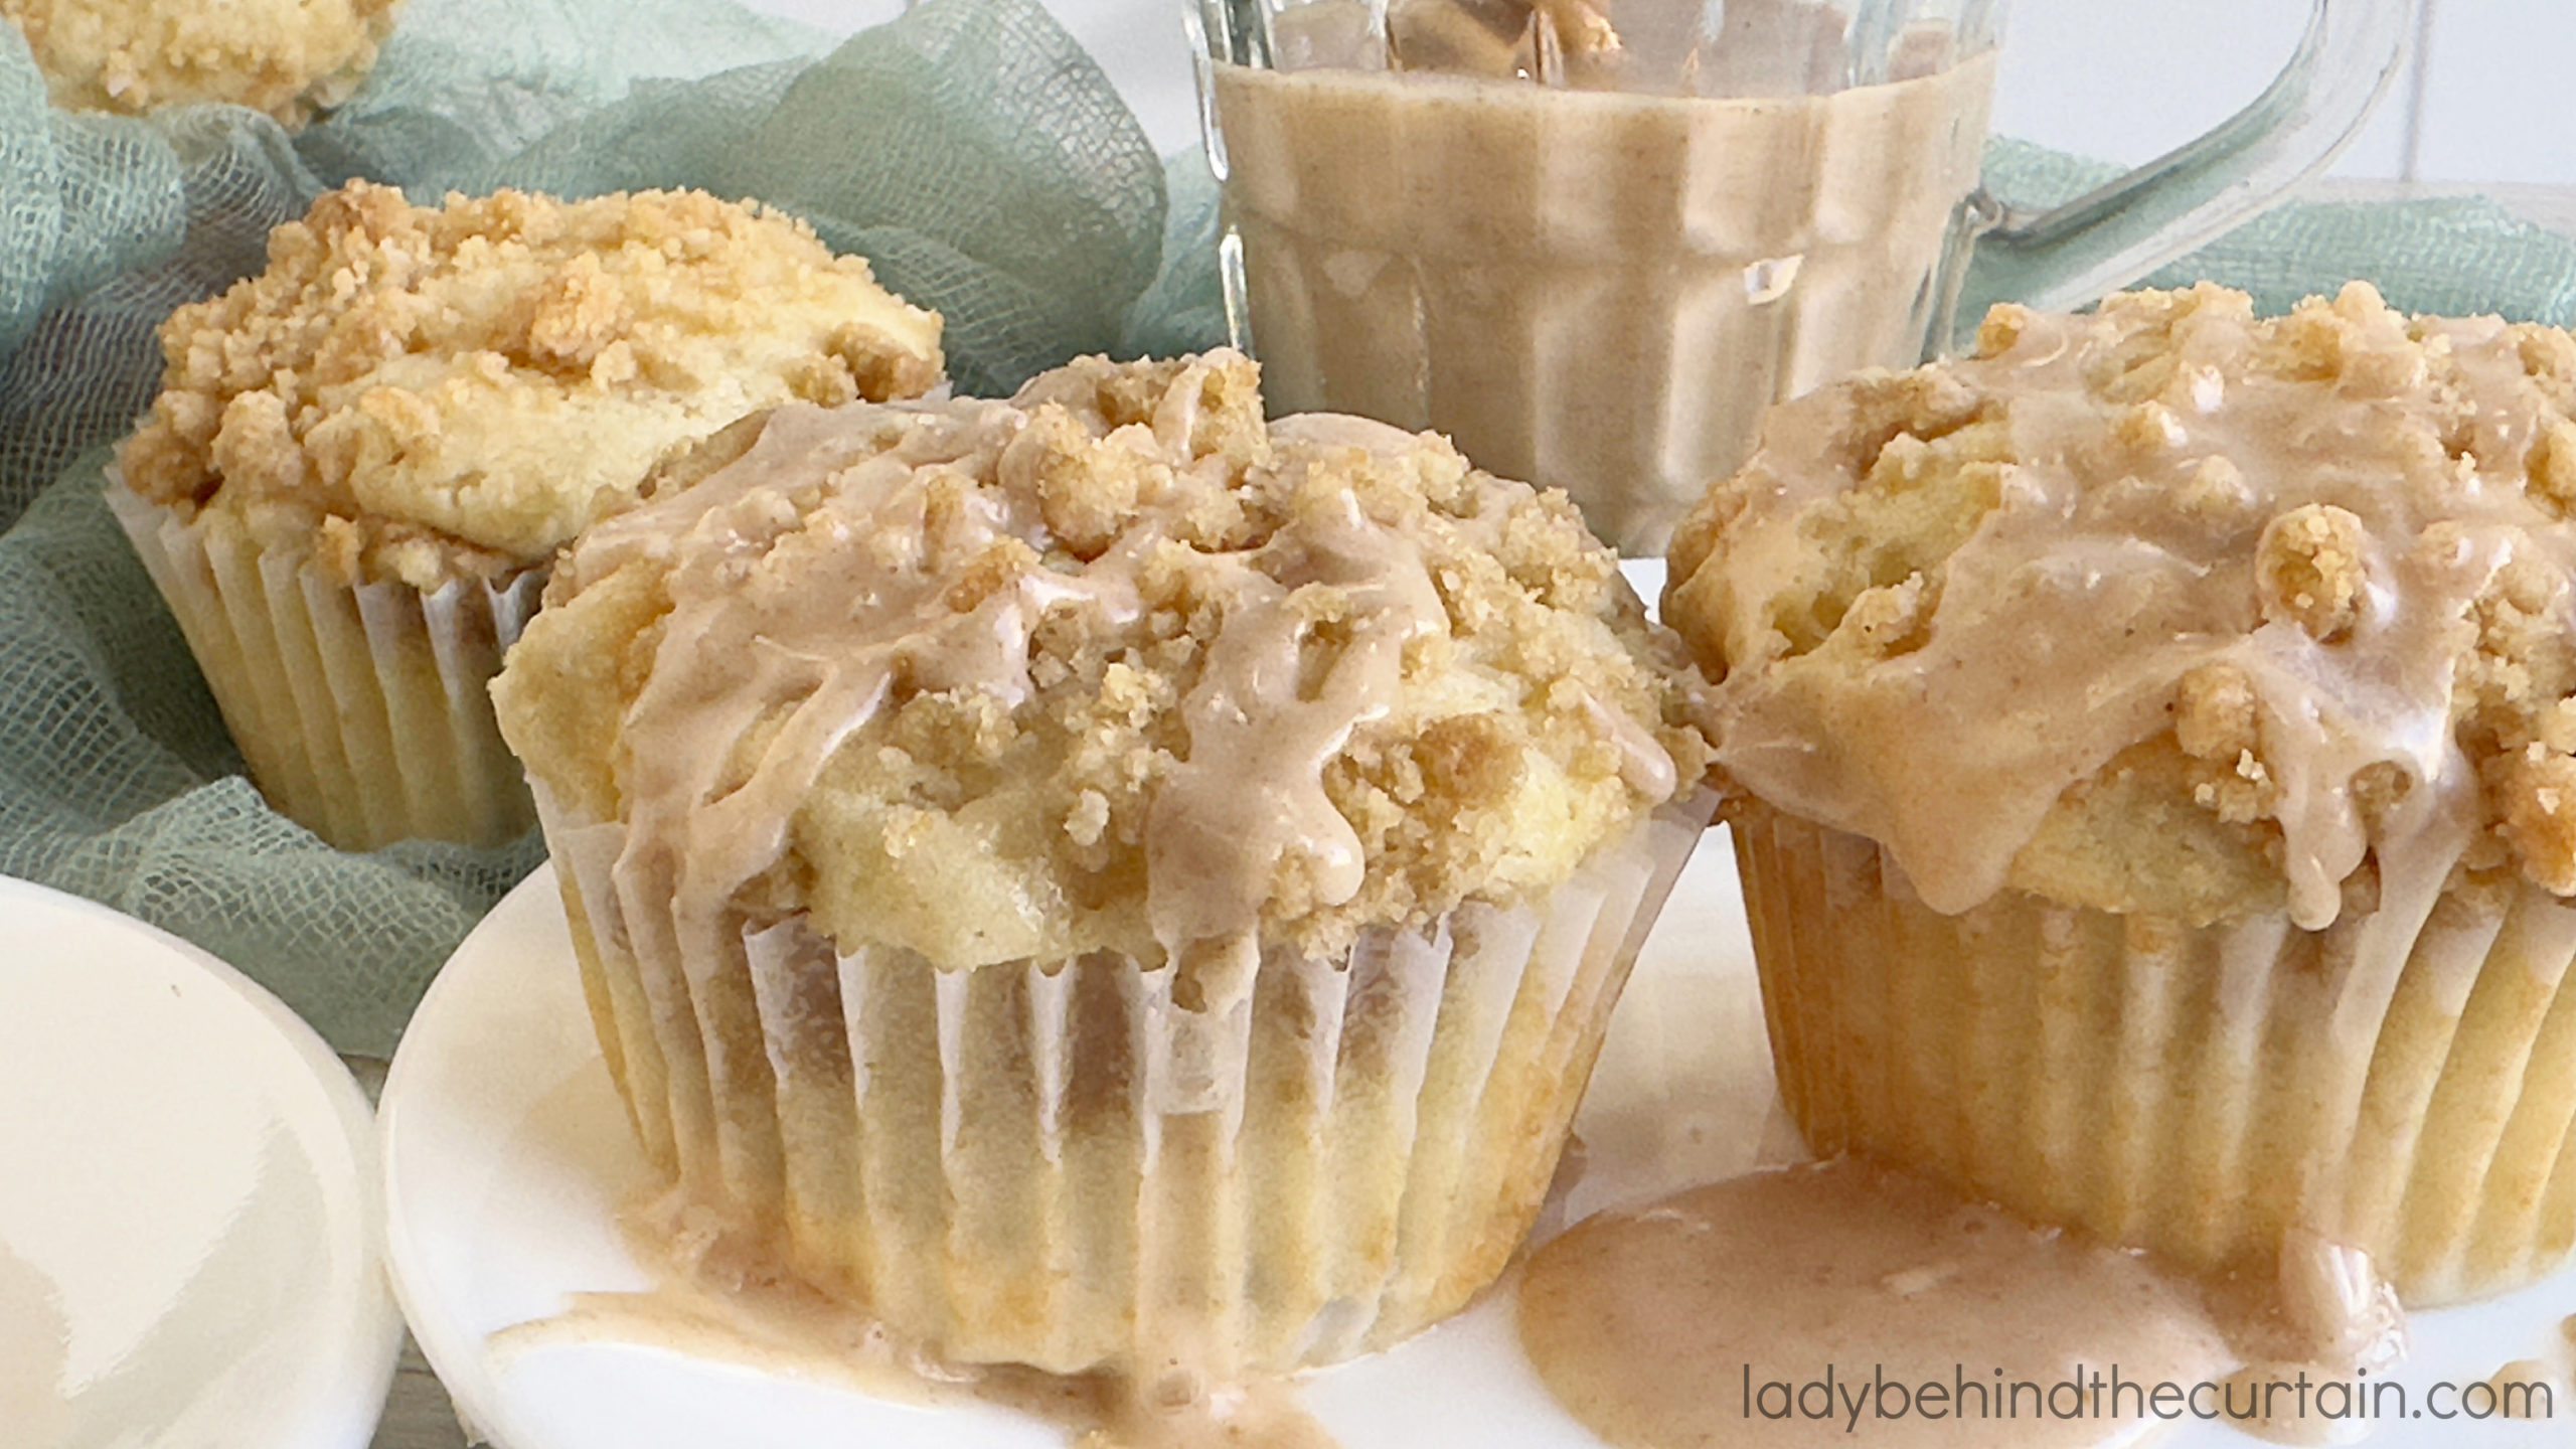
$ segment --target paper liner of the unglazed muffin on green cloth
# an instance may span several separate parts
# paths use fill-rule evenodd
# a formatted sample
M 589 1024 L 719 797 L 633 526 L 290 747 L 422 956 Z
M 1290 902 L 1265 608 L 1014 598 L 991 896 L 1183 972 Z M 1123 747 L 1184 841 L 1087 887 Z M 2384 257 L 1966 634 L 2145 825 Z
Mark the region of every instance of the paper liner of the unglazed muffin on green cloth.
M 121 482 L 134 539 L 250 779 L 343 851 L 412 835 L 497 846 L 536 820 L 487 686 L 536 614 L 546 570 L 505 585 L 345 585 L 224 518 L 180 521 Z

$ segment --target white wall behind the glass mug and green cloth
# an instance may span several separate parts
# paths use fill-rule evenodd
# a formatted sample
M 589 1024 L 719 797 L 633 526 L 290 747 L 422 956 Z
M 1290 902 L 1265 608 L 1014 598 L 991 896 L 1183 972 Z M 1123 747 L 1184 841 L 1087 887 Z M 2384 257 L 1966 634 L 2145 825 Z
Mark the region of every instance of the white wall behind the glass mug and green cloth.
M 744 3 L 829 31 L 902 10 L 902 0 Z M 1046 0 L 1162 152 L 1198 134 L 1185 3 Z M 2398 83 L 2336 173 L 2576 186 L 2576 0 L 2427 5 L 2419 72 Z M 2151 160 L 2251 101 L 2290 57 L 2306 15 L 2303 0 L 2017 0 L 1996 129 L 2105 160 Z

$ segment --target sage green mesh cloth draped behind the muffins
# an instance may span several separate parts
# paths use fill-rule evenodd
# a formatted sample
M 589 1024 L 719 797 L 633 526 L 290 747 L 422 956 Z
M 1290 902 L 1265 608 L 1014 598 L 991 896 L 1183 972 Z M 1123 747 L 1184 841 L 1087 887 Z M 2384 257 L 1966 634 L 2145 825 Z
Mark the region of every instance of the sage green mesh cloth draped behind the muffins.
M 325 186 L 757 196 L 938 307 L 969 392 L 1224 338 L 1206 162 L 1157 162 L 1033 0 L 927 0 L 827 46 L 726 0 L 410 0 L 368 85 L 291 137 L 214 106 L 64 116 L 0 26 L 0 871 L 201 941 L 381 1055 L 538 859 L 353 856 L 270 812 L 100 503 L 155 327 L 255 271 Z M 1999 142 L 1991 173 L 2048 201 L 2105 168 Z M 2156 281 L 2192 276 L 2267 307 L 2372 276 L 2401 307 L 2576 320 L 2576 242 L 2483 201 L 2293 206 Z

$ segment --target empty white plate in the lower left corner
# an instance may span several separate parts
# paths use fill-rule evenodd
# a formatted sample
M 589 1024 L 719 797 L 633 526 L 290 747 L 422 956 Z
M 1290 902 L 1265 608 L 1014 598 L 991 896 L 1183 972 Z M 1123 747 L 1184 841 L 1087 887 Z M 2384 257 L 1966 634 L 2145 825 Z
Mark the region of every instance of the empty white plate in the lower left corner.
M 103 905 L 0 879 L 0 1444 L 366 1444 L 402 1318 L 348 1067 Z

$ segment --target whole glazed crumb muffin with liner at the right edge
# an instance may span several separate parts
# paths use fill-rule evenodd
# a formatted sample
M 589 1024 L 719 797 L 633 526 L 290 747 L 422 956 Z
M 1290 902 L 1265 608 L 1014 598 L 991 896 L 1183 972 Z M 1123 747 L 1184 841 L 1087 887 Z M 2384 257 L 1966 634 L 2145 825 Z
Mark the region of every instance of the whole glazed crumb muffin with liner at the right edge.
M 2416 1305 L 2576 1238 L 2576 343 L 1994 309 L 1674 544 L 1819 1152 Z

